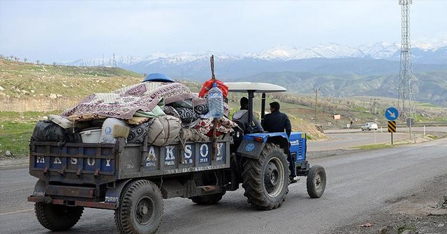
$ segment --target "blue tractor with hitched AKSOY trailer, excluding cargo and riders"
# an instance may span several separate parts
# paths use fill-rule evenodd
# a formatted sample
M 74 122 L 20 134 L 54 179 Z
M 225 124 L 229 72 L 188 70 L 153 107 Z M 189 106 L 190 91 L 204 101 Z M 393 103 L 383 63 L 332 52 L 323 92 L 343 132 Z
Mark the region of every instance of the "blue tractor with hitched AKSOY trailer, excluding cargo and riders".
M 230 92 L 248 93 L 249 118 L 255 93 L 262 93 L 263 118 L 265 93 L 286 91 L 273 84 L 227 84 Z M 286 198 L 291 170 L 307 176 L 312 198 L 320 197 L 326 185 L 323 167 L 309 167 L 306 161 L 305 133 L 287 137 L 285 132 L 257 132 L 251 125 L 210 141 L 156 146 L 146 136 L 142 143 L 117 138 L 115 143 L 60 146 L 32 138 L 29 149 L 29 173 L 38 182 L 28 201 L 36 203 L 38 221 L 52 231 L 68 230 L 80 220 L 84 208 L 97 208 L 115 210 L 120 233 L 155 233 L 164 199 L 182 197 L 209 205 L 241 183 L 254 208 L 272 210 Z

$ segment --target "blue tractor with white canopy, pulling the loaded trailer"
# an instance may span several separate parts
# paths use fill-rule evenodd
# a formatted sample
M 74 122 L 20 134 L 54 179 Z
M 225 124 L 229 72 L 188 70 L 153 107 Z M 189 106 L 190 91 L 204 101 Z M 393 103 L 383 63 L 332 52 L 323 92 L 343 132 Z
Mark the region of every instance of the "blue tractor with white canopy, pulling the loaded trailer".
M 284 92 L 286 88 L 274 84 L 229 82 L 230 92 L 247 93 L 249 99 L 248 123 L 252 123 L 255 93 L 262 93 L 261 122 L 265 115 L 265 93 Z M 312 198 L 323 195 L 326 173 L 323 166 L 309 166 L 306 161 L 307 139 L 302 132 L 259 132 L 256 127 L 238 123 L 233 134 L 231 152 L 235 168 L 239 169 L 244 196 L 260 210 L 278 208 L 288 192 L 290 170 L 297 176 L 307 176 L 307 193 Z M 288 162 L 287 155 L 291 155 Z M 289 169 L 289 164 L 291 164 Z

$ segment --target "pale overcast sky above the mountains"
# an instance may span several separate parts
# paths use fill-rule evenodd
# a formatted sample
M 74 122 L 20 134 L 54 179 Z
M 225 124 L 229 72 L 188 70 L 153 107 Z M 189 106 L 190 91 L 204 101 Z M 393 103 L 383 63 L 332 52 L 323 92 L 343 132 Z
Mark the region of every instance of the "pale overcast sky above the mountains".
M 413 0 L 411 40 L 447 39 L 447 1 Z M 73 61 L 154 52 L 261 52 L 275 45 L 400 42 L 398 0 L 7 1 L 0 54 Z

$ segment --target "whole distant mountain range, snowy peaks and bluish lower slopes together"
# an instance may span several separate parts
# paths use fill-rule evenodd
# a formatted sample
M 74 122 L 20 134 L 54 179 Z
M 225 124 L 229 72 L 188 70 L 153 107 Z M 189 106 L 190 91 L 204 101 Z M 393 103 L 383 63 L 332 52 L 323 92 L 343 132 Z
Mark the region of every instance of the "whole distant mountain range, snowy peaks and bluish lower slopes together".
M 447 106 L 447 40 L 437 45 L 413 42 L 413 72 L 416 100 Z M 322 88 L 323 95 L 346 97 L 376 95 L 397 98 L 400 45 L 378 42 L 349 47 L 329 43 L 312 48 L 279 45 L 259 53 L 221 52 L 155 53 L 149 56 L 115 56 L 115 65 L 134 72 L 161 72 L 174 79 L 204 81 L 214 70 L 223 81 L 264 81 L 288 87 L 297 93 Z M 108 59 L 81 59 L 64 65 L 113 64 Z

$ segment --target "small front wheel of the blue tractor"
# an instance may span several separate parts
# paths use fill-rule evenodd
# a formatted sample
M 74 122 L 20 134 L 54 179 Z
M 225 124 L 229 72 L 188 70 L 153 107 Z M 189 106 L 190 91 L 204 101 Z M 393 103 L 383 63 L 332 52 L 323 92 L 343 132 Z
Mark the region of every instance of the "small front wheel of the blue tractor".
M 307 175 L 307 194 L 311 198 L 319 198 L 326 187 L 326 172 L 323 166 L 314 165 Z

